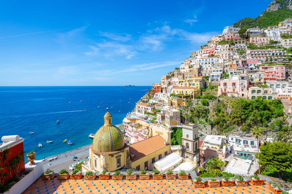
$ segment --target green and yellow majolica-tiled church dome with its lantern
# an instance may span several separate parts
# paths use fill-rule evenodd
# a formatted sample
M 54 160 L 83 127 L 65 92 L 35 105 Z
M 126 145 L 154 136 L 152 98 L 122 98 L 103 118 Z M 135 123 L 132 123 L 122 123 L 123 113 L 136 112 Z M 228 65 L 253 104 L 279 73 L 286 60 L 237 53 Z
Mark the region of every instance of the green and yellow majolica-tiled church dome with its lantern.
M 124 135 L 113 126 L 109 112 L 104 115 L 105 124 L 99 128 L 93 138 L 93 149 L 97 152 L 114 152 L 125 146 Z

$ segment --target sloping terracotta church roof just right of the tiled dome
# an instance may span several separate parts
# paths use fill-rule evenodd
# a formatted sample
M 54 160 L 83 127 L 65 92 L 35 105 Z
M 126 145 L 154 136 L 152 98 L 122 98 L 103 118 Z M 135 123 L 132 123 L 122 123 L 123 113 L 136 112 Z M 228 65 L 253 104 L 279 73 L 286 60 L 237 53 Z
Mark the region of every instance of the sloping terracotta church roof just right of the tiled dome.
M 135 156 L 131 158 L 131 161 L 133 162 L 148 154 L 156 152 L 159 149 L 166 147 L 167 145 L 164 145 L 164 142 L 165 139 L 163 137 L 161 137 L 160 135 L 155 135 L 148 139 L 138 141 L 129 145 L 130 154 L 135 154 Z

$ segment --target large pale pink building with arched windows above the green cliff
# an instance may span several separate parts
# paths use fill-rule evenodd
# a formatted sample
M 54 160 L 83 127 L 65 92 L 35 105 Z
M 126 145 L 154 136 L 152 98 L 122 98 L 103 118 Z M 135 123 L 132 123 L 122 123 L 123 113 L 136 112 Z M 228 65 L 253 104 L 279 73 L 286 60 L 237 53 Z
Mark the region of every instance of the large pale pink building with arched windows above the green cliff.
M 218 84 L 218 96 L 247 97 L 248 75 L 241 74 L 229 79 L 220 80 Z

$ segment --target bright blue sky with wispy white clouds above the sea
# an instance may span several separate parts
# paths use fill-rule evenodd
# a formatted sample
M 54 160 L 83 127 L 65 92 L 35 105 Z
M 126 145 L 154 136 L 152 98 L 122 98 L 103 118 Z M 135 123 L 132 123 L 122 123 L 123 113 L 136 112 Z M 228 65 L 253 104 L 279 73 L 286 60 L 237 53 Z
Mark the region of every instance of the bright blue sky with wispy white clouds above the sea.
M 149 86 L 269 3 L 1 1 L 0 86 Z

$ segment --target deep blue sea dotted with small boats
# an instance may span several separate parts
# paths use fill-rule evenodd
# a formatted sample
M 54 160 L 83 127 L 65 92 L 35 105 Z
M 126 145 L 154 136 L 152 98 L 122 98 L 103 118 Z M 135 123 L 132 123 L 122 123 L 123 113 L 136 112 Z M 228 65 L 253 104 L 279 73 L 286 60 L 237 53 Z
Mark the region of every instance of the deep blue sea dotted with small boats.
M 104 124 L 106 108 L 113 116 L 113 124 L 121 124 L 150 89 L 151 86 L 0 87 L 0 138 L 19 135 L 24 138 L 24 151 L 35 150 L 37 160 L 77 149 L 92 143 L 88 135 Z M 73 144 L 63 142 L 65 139 Z

